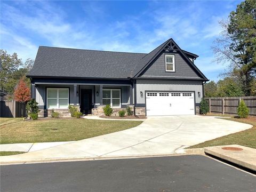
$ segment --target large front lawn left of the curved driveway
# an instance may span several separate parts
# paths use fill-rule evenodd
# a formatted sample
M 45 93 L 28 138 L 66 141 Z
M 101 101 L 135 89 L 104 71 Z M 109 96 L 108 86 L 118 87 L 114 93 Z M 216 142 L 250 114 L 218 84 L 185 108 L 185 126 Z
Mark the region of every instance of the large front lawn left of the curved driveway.
M 142 121 L 104 121 L 84 118 L 1 118 L 0 143 L 75 141 L 138 126 Z M 3 122 L 3 123 L 2 123 Z

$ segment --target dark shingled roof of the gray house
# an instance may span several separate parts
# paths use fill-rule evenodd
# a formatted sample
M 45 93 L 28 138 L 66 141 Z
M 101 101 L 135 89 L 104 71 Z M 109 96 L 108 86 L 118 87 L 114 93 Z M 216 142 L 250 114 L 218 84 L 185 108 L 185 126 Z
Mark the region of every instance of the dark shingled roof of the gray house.
M 34 66 L 27 76 L 111 79 L 135 77 L 171 41 L 173 42 L 172 39 L 168 39 L 148 54 L 39 46 Z M 182 50 L 180 52 L 183 53 Z M 189 59 L 196 58 L 198 55 L 190 52 L 183 53 L 183 55 L 190 65 L 192 63 L 191 66 L 198 70 Z M 201 71 L 198 74 L 202 79 L 207 79 L 201 75 Z

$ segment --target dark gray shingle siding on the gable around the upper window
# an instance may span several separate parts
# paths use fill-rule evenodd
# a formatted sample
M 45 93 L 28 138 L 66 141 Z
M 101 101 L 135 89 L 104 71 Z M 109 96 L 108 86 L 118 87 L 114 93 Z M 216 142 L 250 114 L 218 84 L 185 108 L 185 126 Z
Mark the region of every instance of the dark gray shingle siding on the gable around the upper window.
M 192 77 L 199 79 L 200 77 L 195 71 L 186 63 L 181 56 L 176 53 L 175 55 L 175 72 L 165 71 L 165 54 L 162 53 L 158 59 L 152 63 L 142 77 L 156 76 L 156 77 Z M 173 55 L 173 53 L 172 53 Z

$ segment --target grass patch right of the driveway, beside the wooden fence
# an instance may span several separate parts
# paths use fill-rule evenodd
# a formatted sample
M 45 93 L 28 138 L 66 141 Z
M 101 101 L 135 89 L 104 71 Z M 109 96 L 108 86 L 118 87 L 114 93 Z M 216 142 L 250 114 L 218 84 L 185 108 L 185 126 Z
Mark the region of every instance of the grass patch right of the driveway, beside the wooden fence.
M 222 118 L 226 121 L 235 121 L 240 123 L 247 123 L 253 125 L 251 129 L 247 129 L 245 131 L 229 134 L 217 139 L 213 139 L 210 141 L 205 141 L 203 143 L 199 143 L 198 145 L 191 146 L 189 148 L 203 148 L 203 147 L 211 147 L 211 146 L 222 146 L 222 145 L 242 145 L 245 147 L 256 148 L 256 118 L 249 117 L 247 119 L 240 118 Z

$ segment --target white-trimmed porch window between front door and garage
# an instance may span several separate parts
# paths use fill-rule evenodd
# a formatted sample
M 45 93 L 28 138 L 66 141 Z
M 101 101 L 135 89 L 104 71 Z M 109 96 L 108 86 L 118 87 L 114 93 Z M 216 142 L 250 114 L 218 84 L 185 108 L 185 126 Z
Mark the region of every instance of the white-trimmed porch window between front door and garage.
M 121 108 L 121 90 L 120 89 L 103 89 L 103 105 L 110 105 L 113 108 Z

